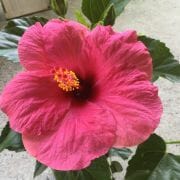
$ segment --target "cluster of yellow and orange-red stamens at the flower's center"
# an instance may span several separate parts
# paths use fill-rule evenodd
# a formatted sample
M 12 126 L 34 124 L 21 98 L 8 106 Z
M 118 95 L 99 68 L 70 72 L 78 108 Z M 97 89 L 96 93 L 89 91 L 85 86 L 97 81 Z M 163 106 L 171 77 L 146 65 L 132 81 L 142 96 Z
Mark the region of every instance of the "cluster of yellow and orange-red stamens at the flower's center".
M 69 92 L 79 89 L 79 79 L 73 71 L 64 68 L 54 68 L 53 74 L 54 80 L 63 91 Z

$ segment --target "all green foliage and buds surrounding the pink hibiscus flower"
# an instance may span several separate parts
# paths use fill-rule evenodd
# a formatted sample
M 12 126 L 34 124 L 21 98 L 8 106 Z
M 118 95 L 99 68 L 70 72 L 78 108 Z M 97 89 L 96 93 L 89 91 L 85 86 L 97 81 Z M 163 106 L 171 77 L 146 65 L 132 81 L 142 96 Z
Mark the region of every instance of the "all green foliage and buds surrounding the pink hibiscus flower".
M 96 25 L 114 25 L 130 0 L 82 0 L 81 11 L 76 12 L 78 22 L 88 28 Z M 62 18 L 68 8 L 67 0 L 51 0 L 52 9 Z M 10 20 L 0 31 L 0 56 L 7 60 L 18 62 L 17 46 L 25 30 L 40 22 L 44 25 L 47 19 L 43 17 L 26 17 Z M 147 37 L 139 36 L 148 48 L 153 60 L 153 81 L 159 77 L 170 81 L 180 81 L 180 64 L 175 59 L 165 43 Z M 21 134 L 13 131 L 9 123 L 4 127 L 0 136 L 0 152 L 4 149 L 24 151 Z M 111 180 L 113 173 L 123 170 L 118 161 L 108 161 L 109 157 L 121 157 L 128 160 L 132 151 L 127 148 L 112 148 L 108 154 L 95 159 L 91 165 L 80 171 L 53 170 L 57 180 Z M 43 173 L 47 167 L 36 161 L 34 177 Z M 140 144 L 134 156 L 128 162 L 126 180 L 178 180 L 180 179 L 180 156 L 166 152 L 164 140 L 153 134 Z

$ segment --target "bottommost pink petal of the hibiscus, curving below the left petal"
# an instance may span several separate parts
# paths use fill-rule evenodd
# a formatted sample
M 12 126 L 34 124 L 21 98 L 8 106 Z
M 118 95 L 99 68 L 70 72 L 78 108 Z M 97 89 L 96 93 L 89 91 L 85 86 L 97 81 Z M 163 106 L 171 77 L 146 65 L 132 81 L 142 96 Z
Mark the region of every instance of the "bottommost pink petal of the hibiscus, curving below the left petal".
M 88 103 L 71 109 L 56 132 L 23 135 L 23 142 L 31 155 L 53 169 L 80 170 L 108 152 L 115 142 L 115 131 L 112 114 Z

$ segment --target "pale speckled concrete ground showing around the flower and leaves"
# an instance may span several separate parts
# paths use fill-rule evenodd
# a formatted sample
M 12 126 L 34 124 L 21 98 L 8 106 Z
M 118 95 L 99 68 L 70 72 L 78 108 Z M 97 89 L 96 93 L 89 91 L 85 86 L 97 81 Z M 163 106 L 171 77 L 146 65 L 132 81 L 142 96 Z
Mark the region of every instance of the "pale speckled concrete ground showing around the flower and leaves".
M 70 7 L 72 11 L 79 7 L 74 1 Z M 154 38 L 167 43 L 174 55 L 180 57 L 180 0 L 132 0 L 124 13 L 117 19 L 117 31 L 136 29 Z M 47 13 L 47 12 L 46 12 Z M 43 13 L 41 13 L 43 15 Z M 49 14 L 46 14 L 49 16 Z M 50 13 L 52 16 L 52 13 Z M 4 84 L 20 71 L 19 64 L 0 60 L 0 90 Z M 167 141 L 180 139 L 180 84 L 174 84 L 160 79 L 156 83 L 164 105 L 164 115 L 159 128 L 156 130 Z M 6 116 L 0 113 L 0 128 L 2 129 Z M 168 145 L 170 152 L 180 154 L 179 145 Z M 32 180 L 34 159 L 26 153 L 13 153 L 4 151 L 0 153 L 0 180 Z M 124 164 L 124 167 L 126 163 Z M 37 180 L 46 180 L 51 177 L 46 171 Z M 122 180 L 122 175 L 117 175 L 117 180 Z

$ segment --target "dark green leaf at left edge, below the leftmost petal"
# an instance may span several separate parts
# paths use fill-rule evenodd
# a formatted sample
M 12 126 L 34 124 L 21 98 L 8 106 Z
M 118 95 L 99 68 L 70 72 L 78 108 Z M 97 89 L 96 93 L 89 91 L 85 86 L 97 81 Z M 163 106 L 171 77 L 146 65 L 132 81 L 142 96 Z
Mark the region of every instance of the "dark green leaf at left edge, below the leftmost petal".
M 21 134 L 10 129 L 9 123 L 6 124 L 0 136 L 0 152 L 4 149 L 16 152 L 24 151 Z

